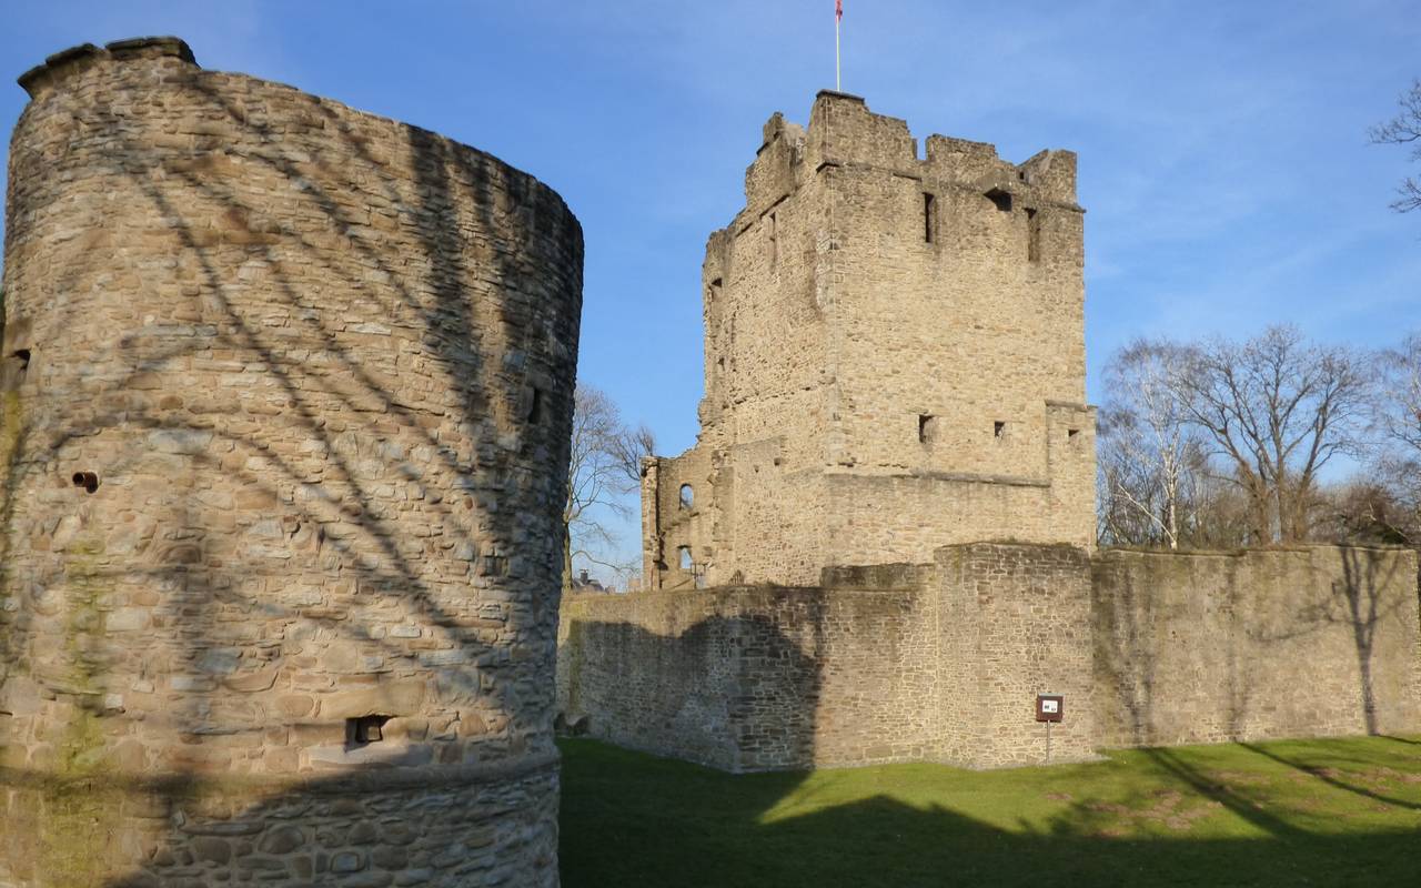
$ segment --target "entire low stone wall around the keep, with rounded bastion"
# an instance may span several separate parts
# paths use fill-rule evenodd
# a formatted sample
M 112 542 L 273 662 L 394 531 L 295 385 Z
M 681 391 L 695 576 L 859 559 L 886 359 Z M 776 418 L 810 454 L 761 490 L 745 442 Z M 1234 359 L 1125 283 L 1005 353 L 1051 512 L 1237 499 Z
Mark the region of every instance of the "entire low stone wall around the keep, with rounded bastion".
M 1417 558 L 972 543 L 816 587 L 564 602 L 558 705 L 726 770 L 1040 764 L 1096 749 L 1421 732 Z M 585 719 L 585 722 L 583 722 Z

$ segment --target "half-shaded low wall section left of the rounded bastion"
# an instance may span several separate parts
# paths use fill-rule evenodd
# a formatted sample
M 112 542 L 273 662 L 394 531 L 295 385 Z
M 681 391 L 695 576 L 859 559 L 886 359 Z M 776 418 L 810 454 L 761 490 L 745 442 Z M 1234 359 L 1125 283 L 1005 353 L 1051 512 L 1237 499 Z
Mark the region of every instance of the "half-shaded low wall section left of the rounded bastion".
M 921 706 L 932 688 L 926 597 L 914 571 L 843 583 L 571 597 L 566 718 L 732 771 L 919 759 L 932 718 Z

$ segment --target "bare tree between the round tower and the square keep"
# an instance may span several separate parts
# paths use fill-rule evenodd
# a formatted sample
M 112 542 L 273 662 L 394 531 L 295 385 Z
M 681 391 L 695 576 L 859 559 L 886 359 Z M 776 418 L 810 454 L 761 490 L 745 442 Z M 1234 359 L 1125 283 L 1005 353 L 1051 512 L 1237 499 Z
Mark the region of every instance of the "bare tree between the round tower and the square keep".
M 563 509 L 563 591 L 573 587 L 573 560 L 605 567 L 625 580 L 637 565 L 617 560 L 612 519 L 630 519 L 628 494 L 641 486 L 641 457 L 655 450 L 647 426 L 628 429 L 611 398 L 578 384 L 573 399 L 573 446 Z

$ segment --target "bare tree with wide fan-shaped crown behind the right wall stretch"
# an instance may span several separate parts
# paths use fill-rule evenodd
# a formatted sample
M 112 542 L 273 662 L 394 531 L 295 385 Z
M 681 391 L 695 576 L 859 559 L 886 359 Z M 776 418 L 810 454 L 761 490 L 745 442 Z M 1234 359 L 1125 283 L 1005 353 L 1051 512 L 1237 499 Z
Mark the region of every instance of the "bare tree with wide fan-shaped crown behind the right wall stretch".
M 1317 475 L 1356 446 L 1366 361 L 1270 327 L 1245 342 L 1188 350 L 1177 382 L 1189 418 L 1248 497 L 1249 541 L 1304 540 Z

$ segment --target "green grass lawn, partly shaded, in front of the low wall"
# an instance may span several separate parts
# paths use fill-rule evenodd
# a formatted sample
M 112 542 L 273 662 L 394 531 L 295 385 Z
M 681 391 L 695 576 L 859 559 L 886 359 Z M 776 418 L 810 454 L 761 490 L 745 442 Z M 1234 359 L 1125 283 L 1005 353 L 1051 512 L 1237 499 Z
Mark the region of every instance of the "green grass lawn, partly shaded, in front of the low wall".
M 563 740 L 564 888 L 1421 888 L 1421 739 L 732 776 Z

